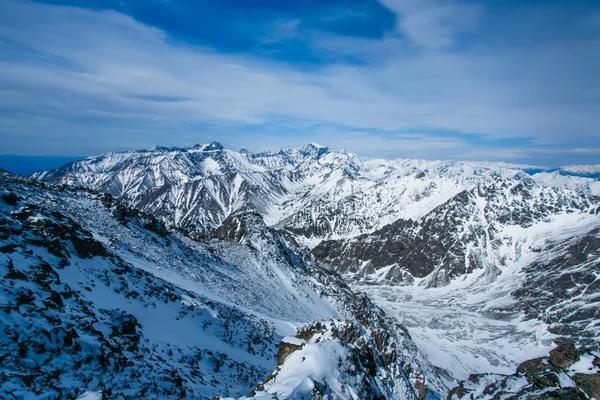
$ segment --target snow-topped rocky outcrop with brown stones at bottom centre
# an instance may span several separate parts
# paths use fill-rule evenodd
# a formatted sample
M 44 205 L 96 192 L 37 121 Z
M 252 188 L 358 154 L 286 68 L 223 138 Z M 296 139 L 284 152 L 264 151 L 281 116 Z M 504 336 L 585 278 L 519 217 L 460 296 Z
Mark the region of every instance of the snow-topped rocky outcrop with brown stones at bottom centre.
M 400 338 L 393 329 L 376 321 L 377 318 L 358 313 L 355 321 L 333 320 L 304 326 L 294 338 L 280 343 L 278 368 L 250 397 L 441 398 L 440 382 L 432 380 L 414 360 L 405 358 L 396 347 Z

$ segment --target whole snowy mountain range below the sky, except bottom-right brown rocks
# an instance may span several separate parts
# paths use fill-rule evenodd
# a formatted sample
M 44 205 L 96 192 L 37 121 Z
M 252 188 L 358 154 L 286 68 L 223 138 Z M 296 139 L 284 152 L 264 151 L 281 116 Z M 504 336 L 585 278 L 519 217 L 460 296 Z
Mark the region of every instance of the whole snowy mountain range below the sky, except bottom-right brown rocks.
M 4 172 L 2 390 L 459 398 L 557 343 L 593 360 L 597 173 L 215 142 Z

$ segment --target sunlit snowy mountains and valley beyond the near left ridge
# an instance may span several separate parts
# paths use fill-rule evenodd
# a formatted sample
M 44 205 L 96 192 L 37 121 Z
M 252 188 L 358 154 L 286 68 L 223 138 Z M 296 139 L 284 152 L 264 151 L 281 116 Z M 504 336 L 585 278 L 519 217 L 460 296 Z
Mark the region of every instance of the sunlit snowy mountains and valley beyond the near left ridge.
M 590 168 L 212 143 L 109 153 L 36 179 L 111 193 L 199 238 L 253 211 L 466 379 L 512 373 L 558 337 L 598 349 L 600 187 Z

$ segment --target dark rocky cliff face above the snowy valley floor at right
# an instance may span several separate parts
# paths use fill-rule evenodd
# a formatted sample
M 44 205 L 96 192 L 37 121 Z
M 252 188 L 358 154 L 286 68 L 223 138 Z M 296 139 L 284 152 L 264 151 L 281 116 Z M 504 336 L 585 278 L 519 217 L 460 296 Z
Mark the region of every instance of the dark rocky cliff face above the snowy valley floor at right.
M 313 253 L 356 279 L 430 287 L 486 270 L 497 274 L 517 257 L 506 248 L 514 229 L 572 215 L 600 222 L 598 202 L 574 192 L 536 185 L 531 179 L 497 179 L 463 191 L 418 220 L 397 220 L 369 234 L 321 242 Z M 382 274 L 379 271 L 384 270 Z

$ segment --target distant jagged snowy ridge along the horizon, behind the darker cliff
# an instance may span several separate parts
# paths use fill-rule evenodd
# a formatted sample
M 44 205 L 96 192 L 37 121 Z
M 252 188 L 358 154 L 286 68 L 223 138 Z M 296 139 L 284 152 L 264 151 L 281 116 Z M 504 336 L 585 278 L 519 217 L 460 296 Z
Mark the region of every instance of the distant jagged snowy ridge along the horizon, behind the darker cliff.
M 356 237 L 398 219 L 421 218 L 484 181 L 529 177 L 515 167 L 361 159 L 316 144 L 253 154 L 213 142 L 108 153 L 35 178 L 123 197 L 169 226 L 198 233 L 218 227 L 236 210 L 251 208 L 269 225 L 314 247 L 324 239 Z M 600 194 L 593 180 L 537 176 L 541 185 Z

